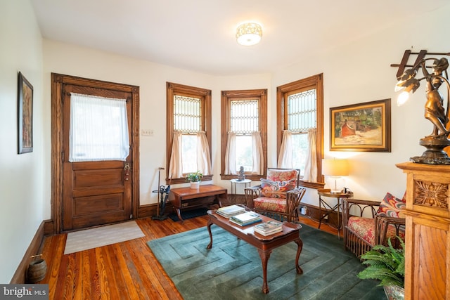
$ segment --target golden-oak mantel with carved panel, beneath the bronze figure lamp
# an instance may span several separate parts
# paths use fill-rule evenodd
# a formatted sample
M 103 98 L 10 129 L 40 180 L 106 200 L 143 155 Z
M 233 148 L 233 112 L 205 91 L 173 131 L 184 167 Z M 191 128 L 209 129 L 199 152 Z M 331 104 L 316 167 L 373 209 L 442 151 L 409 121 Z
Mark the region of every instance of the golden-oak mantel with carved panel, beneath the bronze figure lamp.
M 450 299 L 450 165 L 396 166 L 407 175 L 405 299 Z

